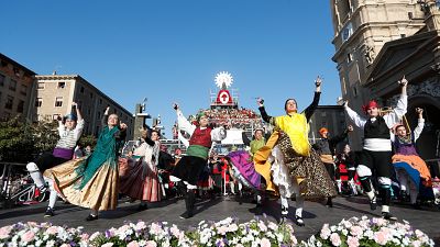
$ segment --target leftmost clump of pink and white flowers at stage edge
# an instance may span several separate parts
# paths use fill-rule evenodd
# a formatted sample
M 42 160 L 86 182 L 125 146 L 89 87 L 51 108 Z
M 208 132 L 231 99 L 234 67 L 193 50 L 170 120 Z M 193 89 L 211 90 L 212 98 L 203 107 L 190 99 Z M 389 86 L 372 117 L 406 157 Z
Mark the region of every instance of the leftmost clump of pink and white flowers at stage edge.
M 0 247 L 3 246 L 88 246 L 88 235 L 82 227 L 67 228 L 51 223 L 16 223 L 0 228 Z

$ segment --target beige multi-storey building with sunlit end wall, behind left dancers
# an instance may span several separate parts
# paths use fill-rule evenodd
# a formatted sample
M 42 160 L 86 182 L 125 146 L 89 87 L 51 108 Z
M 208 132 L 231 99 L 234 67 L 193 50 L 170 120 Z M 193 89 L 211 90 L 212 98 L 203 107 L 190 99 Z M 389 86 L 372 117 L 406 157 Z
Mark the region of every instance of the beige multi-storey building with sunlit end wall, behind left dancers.
M 106 96 L 78 75 L 38 75 L 36 82 L 36 111 L 34 121 L 56 120 L 72 112 L 72 102 L 77 102 L 86 121 L 84 134 L 98 136 L 102 130 L 101 117 L 110 106 L 110 113 L 119 115 L 128 124 L 128 136 L 133 138 L 134 117 L 131 112 Z

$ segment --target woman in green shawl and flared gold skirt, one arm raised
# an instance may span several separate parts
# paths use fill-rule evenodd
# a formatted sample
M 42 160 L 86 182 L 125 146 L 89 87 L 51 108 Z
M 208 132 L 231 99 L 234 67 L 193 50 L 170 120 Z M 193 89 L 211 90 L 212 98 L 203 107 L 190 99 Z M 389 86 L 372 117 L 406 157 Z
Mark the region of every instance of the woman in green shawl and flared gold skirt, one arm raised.
M 98 211 L 114 210 L 118 204 L 118 151 L 125 138 L 127 125 L 107 108 L 94 153 L 44 172 L 57 192 L 69 203 L 91 209 L 87 221 L 98 220 Z

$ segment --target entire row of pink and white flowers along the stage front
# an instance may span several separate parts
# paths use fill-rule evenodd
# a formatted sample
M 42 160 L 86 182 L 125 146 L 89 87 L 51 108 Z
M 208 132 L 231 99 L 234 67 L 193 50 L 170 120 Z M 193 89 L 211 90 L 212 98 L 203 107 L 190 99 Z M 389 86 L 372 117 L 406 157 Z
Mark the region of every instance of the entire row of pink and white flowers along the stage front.
M 166 222 L 146 224 L 125 223 L 119 228 L 88 235 L 82 227 L 68 228 L 50 223 L 18 223 L 0 228 L 0 247 L 196 247 L 196 246 L 433 246 L 432 239 L 407 223 L 388 222 L 382 218 L 352 217 L 338 225 L 324 224 L 322 229 L 307 243 L 297 243 L 289 224 L 254 218 L 239 223 L 228 217 L 220 222 L 200 222 L 194 229 L 182 231 Z

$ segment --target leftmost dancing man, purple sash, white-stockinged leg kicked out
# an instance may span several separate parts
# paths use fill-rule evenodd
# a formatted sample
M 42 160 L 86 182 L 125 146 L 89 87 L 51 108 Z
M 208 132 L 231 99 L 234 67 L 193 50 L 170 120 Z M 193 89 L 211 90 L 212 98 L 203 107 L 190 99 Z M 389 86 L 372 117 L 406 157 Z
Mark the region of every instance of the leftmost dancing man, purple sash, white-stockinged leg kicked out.
M 43 154 L 34 161 L 26 165 L 26 169 L 40 191 L 37 201 L 40 201 L 47 189 L 51 191 L 48 206 L 44 214 L 45 217 L 51 217 L 54 215 L 57 193 L 54 188 L 51 187 L 51 183 L 50 187 L 46 186 L 46 182 L 43 178 L 43 172 L 46 169 L 70 160 L 74 157 L 77 142 L 82 134 L 84 119 L 79 111 L 78 104 L 73 102 L 72 106 L 76 114 L 70 113 L 67 114 L 64 120 L 58 120 L 59 141 L 56 143 L 53 153 Z

